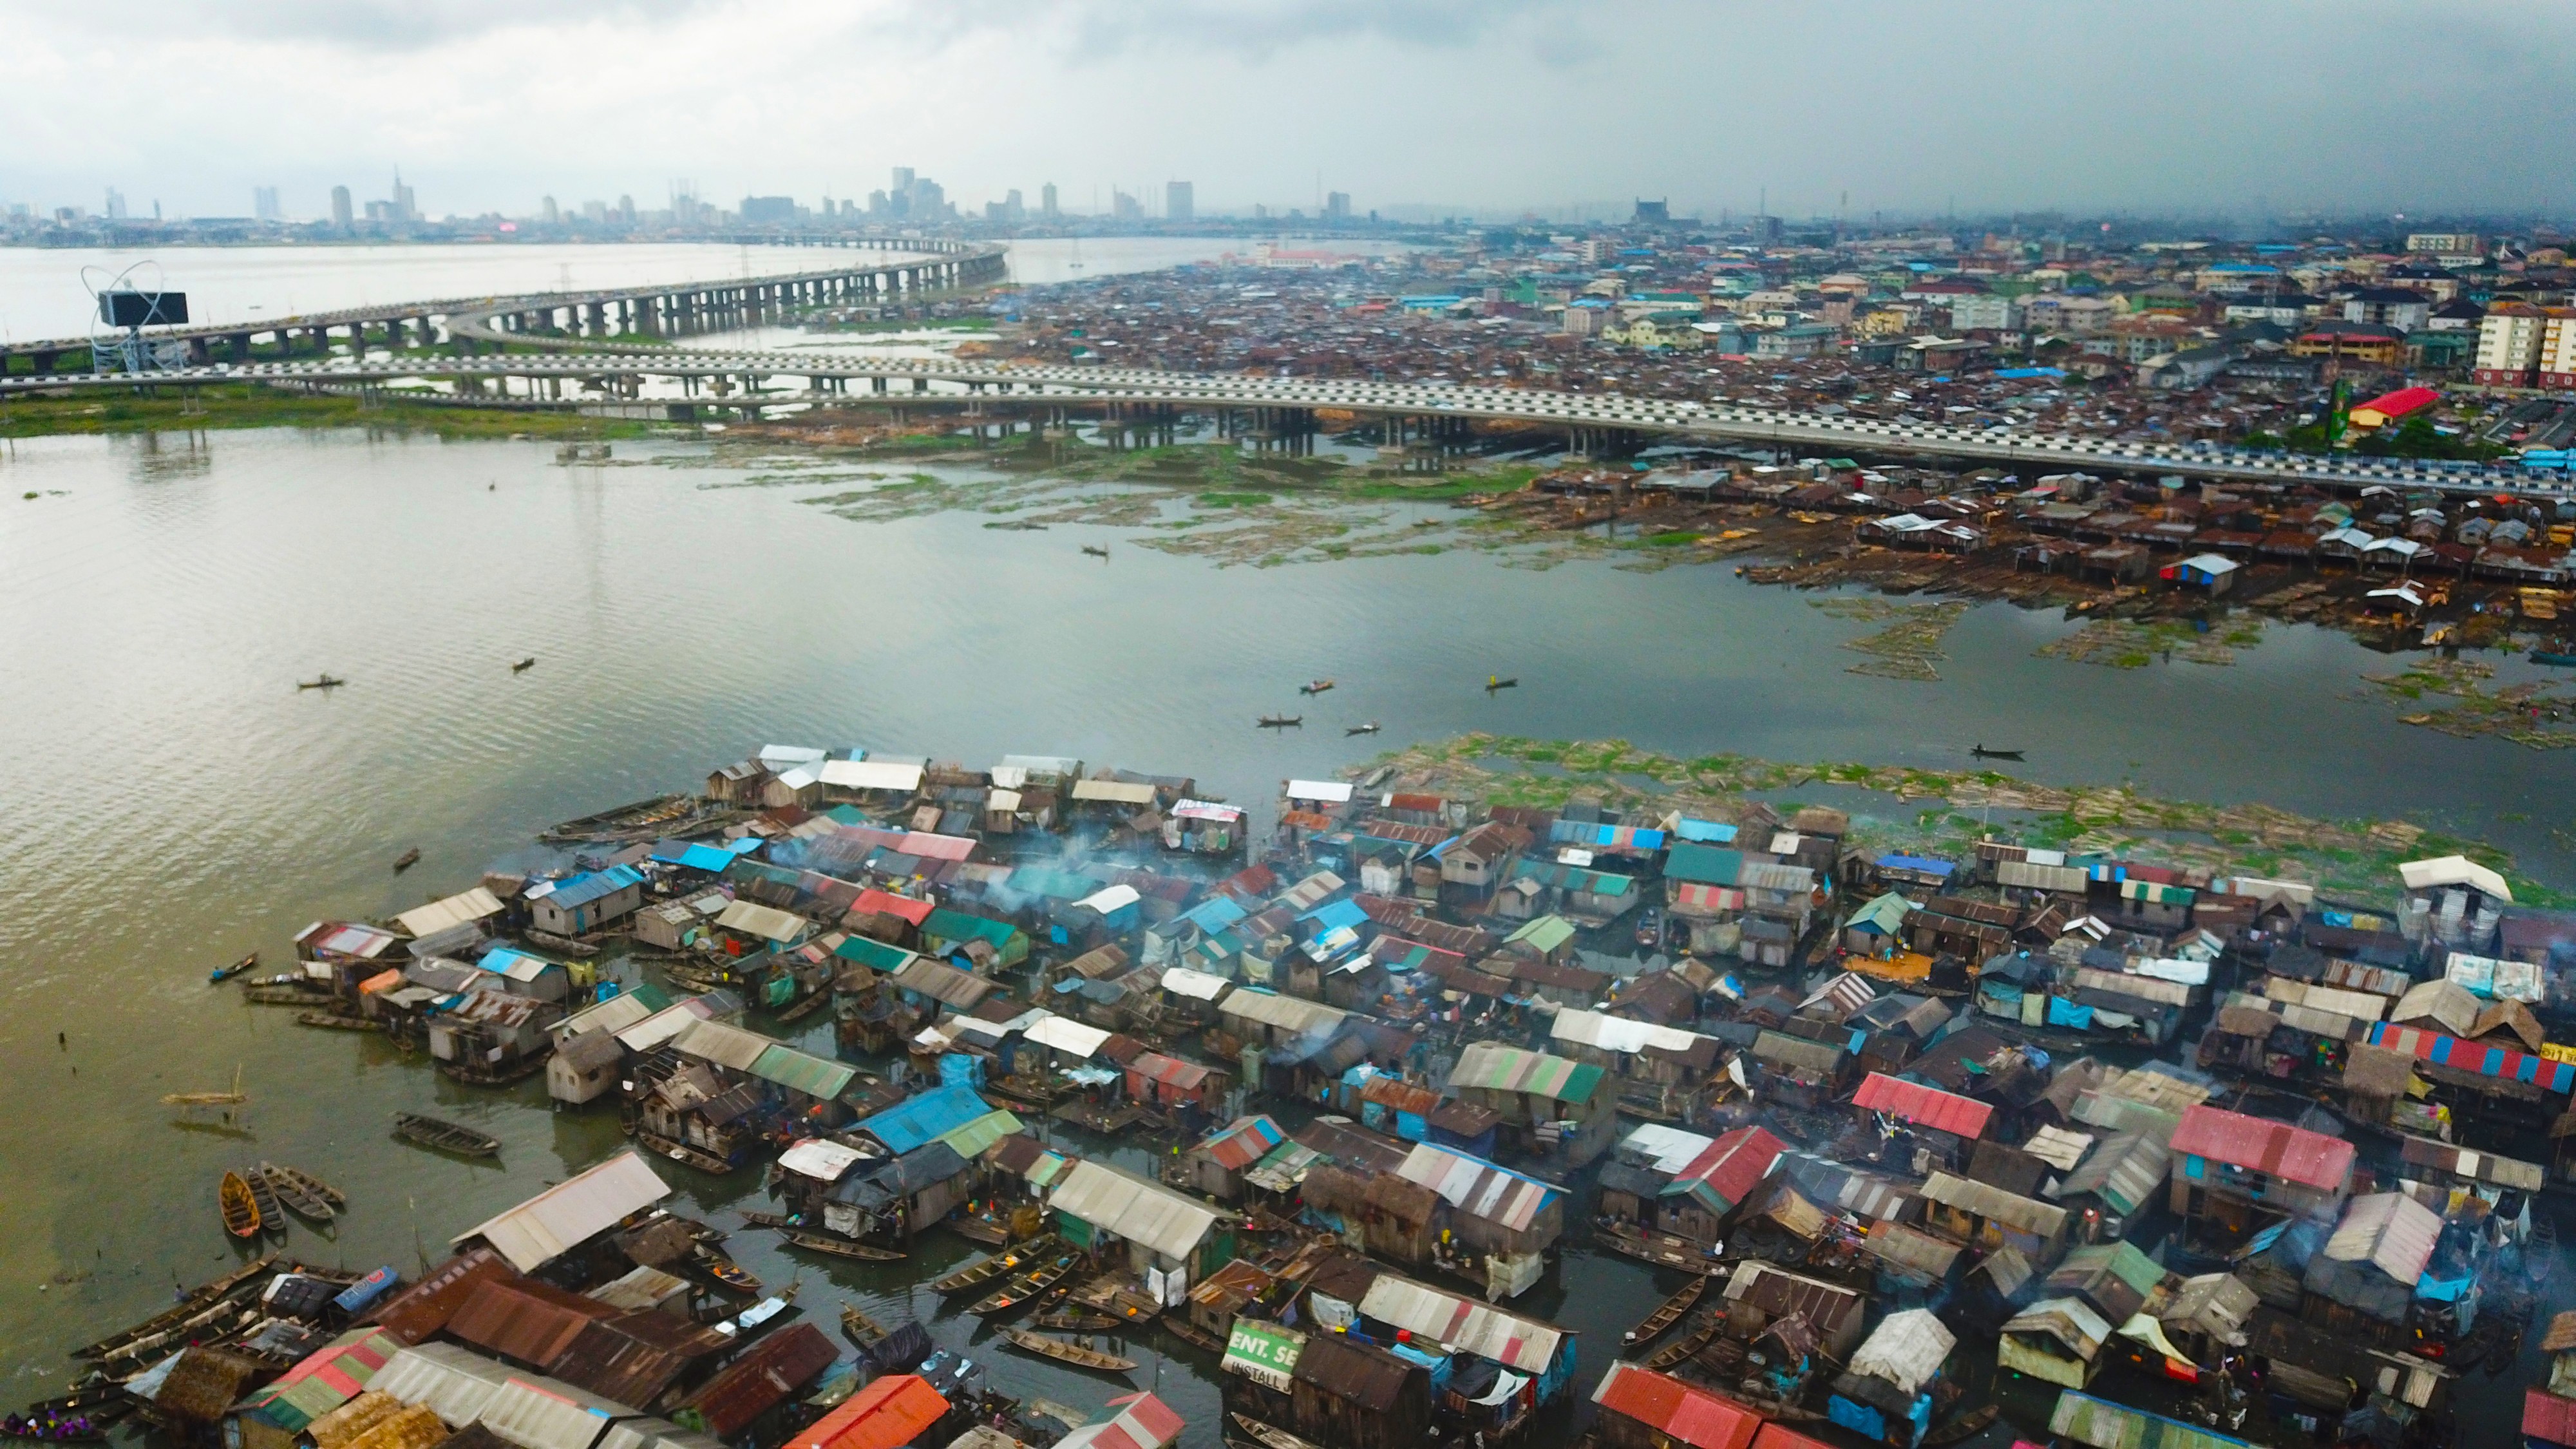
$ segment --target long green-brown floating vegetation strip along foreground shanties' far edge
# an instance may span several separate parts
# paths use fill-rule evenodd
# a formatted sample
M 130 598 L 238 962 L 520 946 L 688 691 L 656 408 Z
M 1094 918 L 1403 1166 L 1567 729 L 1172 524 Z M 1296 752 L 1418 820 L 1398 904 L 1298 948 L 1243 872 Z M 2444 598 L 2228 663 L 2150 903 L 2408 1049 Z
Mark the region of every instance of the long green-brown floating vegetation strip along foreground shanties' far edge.
M 2056 786 L 1994 771 L 1927 771 L 1865 763 L 1783 763 L 1749 755 L 1664 755 L 1625 740 L 1525 740 L 1461 735 L 1414 745 L 1345 771 L 1391 771 L 1386 789 L 1561 807 L 1734 820 L 1757 794 L 1852 786 L 1914 810 L 1852 820 L 1865 851 L 1976 853 L 1981 838 L 2056 851 L 2102 851 L 2133 861 L 2202 866 L 2221 874 L 2313 882 L 2336 900 L 2396 905 L 2398 861 L 2470 856 L 2514 882 L 2514 900 L 2571 902 L 2514 874 L 2512 856 L 2481 841 L 2409 820 L 2316 820 L 2269 804 L 2164 799 L 2136 786 Z M 1785 807 L 1783 807 L 1785 810 Z

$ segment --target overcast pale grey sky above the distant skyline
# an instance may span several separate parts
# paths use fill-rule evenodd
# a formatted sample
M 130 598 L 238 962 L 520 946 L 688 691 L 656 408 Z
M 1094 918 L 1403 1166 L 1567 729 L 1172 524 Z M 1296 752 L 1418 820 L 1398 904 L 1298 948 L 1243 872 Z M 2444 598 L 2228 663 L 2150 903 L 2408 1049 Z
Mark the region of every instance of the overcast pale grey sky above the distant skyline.
M 2576 5 L 124 0 L 0 8 L 0 201 L 291 217 L 889 168 L 1198 209 L 2561 214 Z

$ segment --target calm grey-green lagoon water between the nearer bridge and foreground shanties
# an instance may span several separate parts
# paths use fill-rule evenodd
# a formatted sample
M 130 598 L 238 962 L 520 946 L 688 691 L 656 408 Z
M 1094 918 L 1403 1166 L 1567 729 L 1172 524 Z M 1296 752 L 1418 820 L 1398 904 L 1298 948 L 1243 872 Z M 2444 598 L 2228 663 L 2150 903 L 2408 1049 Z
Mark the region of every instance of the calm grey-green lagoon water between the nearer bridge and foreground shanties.
M 706 451 L 618 443 L 618 462 Z M 1984 740 L 2027 748 L 2032 779 L 2406 815 L 2496 838 L 2553 884 L 2576 877 L 2550 835 L 2576 761 L 2398 724 L 2360 686 L 2388 660 L 2318 629 L 2272 627 L 2236 668 L 2105 670 L 2032 655 L 2071 629 L 2056 616 L 1981 606 L 1937 683 L 1901 683 L 1847 673 L 1857 655 L 1839 645 L 1868 624 L 1723 567 L 1218 570 L 1113 529 L 853 523 L 801 503 L 829 487 L 726 487 L 742 482 L 361 431 L 0 449 L 0 1060 L 15 1088 L 0 1400 L 52 1392 L 64 1348 L 237 1261 L 214 1212 L 227 1165 L 299 1163 L 348 1189 L 335 1235 L 296 1225 L 289 1253 L 415 1271 L 613 1152 L 613 1111 L 554 1114 L 541 1083 L 456 1088 L 379 1039 L 245 1008 L 206 969 L 250 949 L 283 962 L 309 920 L 461 890 L 554 820 L 685 789 L 773 740 L 1079 755 L 1195 773 L 1257 815 L 1285 776 L 1463 730 L 1924 766 Z M 526 655 L 538 665 L 513 676 Z M 294 688 L 322 670 L 348 688 Z M 1489 673 L 1522 688 L 1486 696 Z M 1340 688 L 1303 701 L 1303 732 L 1252 727 L 1316 676 Z M 1363 719 L 1386 732 L 1340 735 Z M 415 846 L 422 861 L 389 874 Z M 829 1026 L 804 1036 L 829 1049 Z M 157 1104 L 237 1067 L 252 1101 L 229 1127 L 180 1127 Z M 397 1145 L 397 1109 L 502 1137 L 500 1165 Z M 757 1173 L 667 1176 L 719 1222 L 760 1207 Z M 930 1318 L 938 1299 L 907 1284 L 933 1271 L 793 1263 L 762 1232 L 734 1250 L 773 1284 L 801 1269 L 827 1328 L 845 1292 L 881 1320 L 925 1315 L 943 1343 L 976 1328 Z M 938 1269 L 966 1245 L 933 1232 L 925 1253 Z M 1582 1328 L 1597 1372 L 1654 1294 L 1643 1269 L 1574 1256 L 1528 1305 Z M 1084 1408 L 1108 1392 L 971 1351 L 1005 1392 Z M 1213 1444 L 1211 1364 L 1131 1356 L 1193 1444 Z

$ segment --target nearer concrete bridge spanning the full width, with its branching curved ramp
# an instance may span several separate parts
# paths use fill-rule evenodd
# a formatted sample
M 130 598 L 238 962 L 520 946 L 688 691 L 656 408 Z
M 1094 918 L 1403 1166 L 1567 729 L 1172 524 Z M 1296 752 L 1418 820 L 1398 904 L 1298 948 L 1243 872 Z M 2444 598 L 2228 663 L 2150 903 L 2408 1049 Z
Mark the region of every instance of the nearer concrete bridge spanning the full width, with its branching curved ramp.
M 935 242 L 907 242 L 930 248 Z M 1860 456 L 1922 456 L 1989 462 L 2014 472 L 2179 474 L 2213 482 L 2321 485 L 2354 492 L 2372 485 L 2481 495 L 2568 498 L 2568 480 L 2519 467 L 2434 464 L 2406 459 L 2308 456 L 2210 443 L 2146 443 L 2087 438 L 2032 428 L 1950 428 L 1942 423 L 1883 423 L 1821 413 L 1620 397 L 1600 392 L 1546 392 L 1528 387 L 1291 379 L 1234 374 L 1177 374 L 1110 366 L 1018 366 L 958 358 L 871 358 L 827 351 L 711 351 L 677 348 L 665 333 L 747 325 L 783 309 L 840 297 L 886 299 L 945 286 L 974 286 L 1002 276 L 1002 248 L 889 260 L 873 268 L 744 278 L 734 284 L 636 286 L 580 294 L 533 294 L 453 304 L 371 309 L 335 322 L 350 327 L 350 353 L 278 361 L 214 361 L 160 374 L 52 374 L 0 376 L 0 397 L 46 389 L 100 387 L 204 387 L 258 382 L 312 389 L 386 389 L 448 384 L 469 397 L 523 397 L 567 402 L 598 397 L 592 410 L 626 415 L 696 415 L 698 410 L 778 407 L 863 394 L 907 407 L 945 407 L 976 418 L 1041 415 L 1064 423 L 1072 413 L 1162 418 L 1213 413 L 1221 428 L 1265 438 L 1311 438 L 1319 410 L 1378 418 L 1388 441 L 1435 441 L 1471 423 L 1522 423 L 1558 431 L 1574 454 L 1602 454 L 1643 441 L 1765 446 L 1772 451 L 1832 451 Z M 435 317 L 466 356 L 371 353 L 368 325 L 386 317 Z M 319 327 L 319 320 L 312 322 Z M 193 338 L 229 338 L 240 327 L 201 327 Z M 327 338 L 327 333 L 322 333 Z M 399 340 L 399 338 L 397 338 Z M 482 353 L 492 343 L 520 351 Z M 327 348 L 327 340 L 322 343 Z M 528 348 L 544 351 L 528 351 Z M 801 389 L 775 389 L 773 379 L 804 379 Z M 644 400 L 644 384 L 677 384 L 680 400 Z M 515 387 L 515 392 L 513 392 Z

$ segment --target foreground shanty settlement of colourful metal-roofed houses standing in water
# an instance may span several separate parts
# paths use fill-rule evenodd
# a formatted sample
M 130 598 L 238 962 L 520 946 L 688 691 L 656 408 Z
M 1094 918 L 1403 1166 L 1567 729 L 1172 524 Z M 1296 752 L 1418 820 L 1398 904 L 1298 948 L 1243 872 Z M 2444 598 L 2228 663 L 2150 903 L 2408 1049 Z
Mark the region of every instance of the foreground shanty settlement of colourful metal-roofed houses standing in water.
M 541 1073 L 631 1150 L 410 1281 L 209 1284 L 23 1423 L 1159 1446 L 1151 1343 L 1265 1449 L 1911 1449 L 1999 1415 L 2396 1446 L 2450 1444 L 2517 1361 L 2571 1178 L 2576 918 L 2486 866 L 2411 861 L 2372 913 L 1386 773 L 1283 781 L 1255 822 L 1188 776 L 773 745 L 551 830 L 564 869 L 317 923 L 258 1000 L 469 1091 Z M 672 1183 L 760 1209 L 698 1222 Z M 726 1253 L 750 1232 L 819 1266 L 974 1240 L 912 1302 L 989 1348 L 855 1305 L 835 1341 Z M 1566 1253 L 1638 1263 L 1587 1276 L 1631 1284 L 1618 1338 L 1525 1307 Z M 2522 1428 L 2576 1444 L 2576 1318 L 2545 1333 Z M 1007 1392 L 1025 1359 L 1121 1397 L 1048 1418 Z

